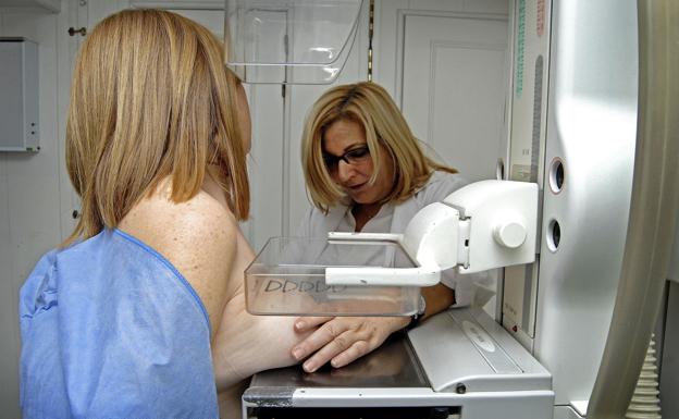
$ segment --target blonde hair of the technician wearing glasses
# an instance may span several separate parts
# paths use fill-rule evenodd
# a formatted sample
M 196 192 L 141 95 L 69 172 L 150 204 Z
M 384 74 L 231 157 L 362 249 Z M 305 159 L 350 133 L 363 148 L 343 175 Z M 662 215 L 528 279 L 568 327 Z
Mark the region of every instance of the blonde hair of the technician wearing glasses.
M 394 188 L 382 200 L 400 202 L 423 186 L 434 171 L 457 173 L 424 155 L 419 140 L 386 90 L 371 82 L 342 85 L 326 90 L 313 104 L 305 122 L 301 138 L 301 165 L 309 198 L 326 212 L 346 195 L 332 180 L 323 161 L 323 140 L 330 125 L 348 120 L 362 126 L 373 160 L 369 182 L 375 182 L 383 152 L 394 163 Z

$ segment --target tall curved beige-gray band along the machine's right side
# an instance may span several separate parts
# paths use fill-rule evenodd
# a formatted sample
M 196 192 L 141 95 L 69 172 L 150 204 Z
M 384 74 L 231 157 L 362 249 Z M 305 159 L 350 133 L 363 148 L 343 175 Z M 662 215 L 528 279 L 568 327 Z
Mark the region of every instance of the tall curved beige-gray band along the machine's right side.
M 679 2 L 638 0 L 639 116 L 630 220 L 588 418 L 624 418 L 667 276 L 679 211 Z M 615 209 L 612 209 L 615 211 Z

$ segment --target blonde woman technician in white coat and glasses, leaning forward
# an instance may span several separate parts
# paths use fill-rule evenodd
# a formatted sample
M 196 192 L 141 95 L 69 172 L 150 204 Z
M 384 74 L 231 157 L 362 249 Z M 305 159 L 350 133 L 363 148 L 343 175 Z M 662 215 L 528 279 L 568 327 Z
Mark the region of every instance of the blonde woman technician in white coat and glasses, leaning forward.
M 374 83 L 336 86 L 316 101 L 304 128 L 301 160 L 313 207 L 303 220 L 299 236 L 326 237 L 333 231 L 404 233 L 420 209 L 467 183 L 455 169 L 423 153 L 392 98 Z M 447 271 L 442 282 L 422 288 L 422 318 L 452 305 L 470 304 L 471 279 L 460 280 Z M 308 357 L 307 372 L 328 361 L 342 367 L 411 321 L 404 317 L 299 318 L 295 330 L 312 333 L 292 354 L 298 360 Z

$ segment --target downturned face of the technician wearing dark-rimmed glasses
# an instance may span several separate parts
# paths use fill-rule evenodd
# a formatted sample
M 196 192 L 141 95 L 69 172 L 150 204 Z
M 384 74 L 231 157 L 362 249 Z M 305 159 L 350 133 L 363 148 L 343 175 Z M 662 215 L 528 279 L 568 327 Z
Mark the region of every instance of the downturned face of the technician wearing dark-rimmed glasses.
M 323 136 L 325 164 L 333 180 L 357 204 L 369 205 L 382 200 L 393 188 L 394 164 L 388 152 L 380 173 L 369 183 L 374 167 L 362 125 L 350 120 L 332 123 Z

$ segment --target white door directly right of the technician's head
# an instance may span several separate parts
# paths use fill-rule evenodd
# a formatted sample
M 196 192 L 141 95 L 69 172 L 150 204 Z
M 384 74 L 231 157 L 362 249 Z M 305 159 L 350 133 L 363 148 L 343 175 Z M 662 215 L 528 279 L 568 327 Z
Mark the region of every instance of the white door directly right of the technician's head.
M 406 15 L 402 109 L 418 138 L 470 181 L 504 155 L 507 21 Z

